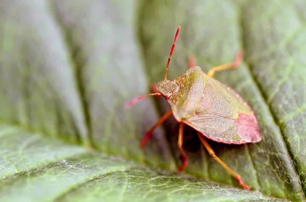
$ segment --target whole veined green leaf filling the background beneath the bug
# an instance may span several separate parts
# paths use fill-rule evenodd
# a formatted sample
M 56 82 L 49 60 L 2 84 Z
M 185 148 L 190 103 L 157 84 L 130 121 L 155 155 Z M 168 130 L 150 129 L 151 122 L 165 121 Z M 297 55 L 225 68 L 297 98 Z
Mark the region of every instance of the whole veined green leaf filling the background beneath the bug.
M 304 9 L 298 0 L 0 2 L 0 201 L 306 200 Z M 209 143 L 250 192 L 188 127 L 188 174 L 175 172 L 173 118 L 138 147 L 169 106 L 123 106 L 163 79 L 178 25 L 168 78 L 186 71 L 188 55 L 207 72 L 245 52 L 239 69 L 215 78 L 252 107 L 263 139 Z

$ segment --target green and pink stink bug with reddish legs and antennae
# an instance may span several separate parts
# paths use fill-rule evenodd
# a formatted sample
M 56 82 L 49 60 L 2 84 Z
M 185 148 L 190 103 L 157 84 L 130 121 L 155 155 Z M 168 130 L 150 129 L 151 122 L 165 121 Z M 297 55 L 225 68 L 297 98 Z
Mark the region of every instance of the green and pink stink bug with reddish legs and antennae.
M 241 186 L 249 190 L 250 187 L 245 185 L 240 177 L 215 155 L 204 138 L 206 136 L 217 142 L 236 145 L 261 140 L 261 133 L 252 109 L 238 93 L 212 78 L 217 71 L 237 68 L 241 62 L 242 52 L 236 53 L 234 62 L 214 67 L 207 74 L 202 72 L 199 66 L 195 66 L 193 59 L 189 58 L 189 69 L 186 73 L 167 80 L 168 67 L 180 28 L 181 26 L 177 28 L 170 50 L 165 78 L 157 84 L 157 93 L 140 96 L 125 105 L 129 107 L 147 96 L 157 95 L 163 96 L 171 106 L 171 110 L 147 131 L 140 146 L 143 147 L 151 137 L 152 131 L 173 114 L 176 121 L 180 122 L 177 146 L 183 160 L 179 170 L 182 171 L 187 165 L 187 156 L 182 149 L 183 127 L 187 124 L 197 131 L 198 137 L 209 154 L 230 172 Z

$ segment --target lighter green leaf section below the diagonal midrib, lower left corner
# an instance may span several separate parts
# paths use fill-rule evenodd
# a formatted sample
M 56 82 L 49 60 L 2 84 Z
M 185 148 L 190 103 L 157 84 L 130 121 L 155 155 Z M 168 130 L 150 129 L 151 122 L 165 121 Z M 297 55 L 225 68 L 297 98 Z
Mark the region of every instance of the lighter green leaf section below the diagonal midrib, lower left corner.
M 268 201 L 259 192 L 89 152 L 18 127 L 2 125 L 0 140 L 0 201 Z

